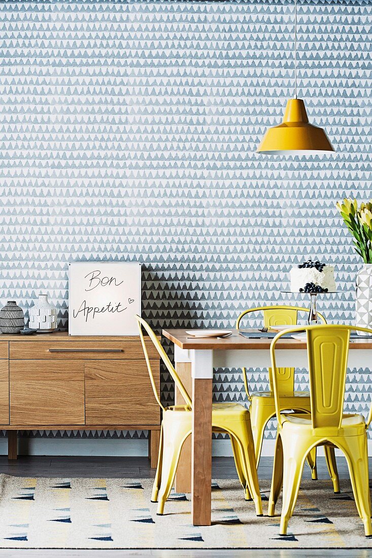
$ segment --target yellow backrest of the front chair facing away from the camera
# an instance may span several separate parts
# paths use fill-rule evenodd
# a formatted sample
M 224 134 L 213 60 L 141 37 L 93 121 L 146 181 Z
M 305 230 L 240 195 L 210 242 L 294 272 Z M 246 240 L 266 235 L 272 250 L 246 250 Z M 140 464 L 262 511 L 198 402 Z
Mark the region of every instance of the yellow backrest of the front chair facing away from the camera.
M 270 356 L 273 369 L 273 387 L 276 417 L 280 420 L 280 388 L 276 367 L 275 346 L 284 333 L 306 331 L 309 366 L 311 420 L 313 429 L 323 427 L 339 429 L 344 410 L 347 357 L 349 355 L 350 331 L 372 330 L 354 325 L 308 325 L 280 331 L 271 342 Z

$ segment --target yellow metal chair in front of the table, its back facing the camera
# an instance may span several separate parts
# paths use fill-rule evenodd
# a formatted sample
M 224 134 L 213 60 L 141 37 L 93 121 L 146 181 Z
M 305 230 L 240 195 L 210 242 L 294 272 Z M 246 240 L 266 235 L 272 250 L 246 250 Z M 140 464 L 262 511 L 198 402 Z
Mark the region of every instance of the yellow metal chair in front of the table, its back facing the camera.
M 320 445 L 332 445 L 345 454 L 357 512 L 364 523 L 366 537 L 372 536 L 368 480 L 367 422 L 361 415 L 344 413 L 347 357 L 350 331 L 372 330 L 351 325 L 313 325 L 291 328 L 292 333 L 306 329 L 309 366 L 311 415 L 281 413 L 280 369 L 275 363 L 275 346 L 283 332 L 275 336 L 270 347 L 278 435 L 276 437 L 273 480 L 269 498 L 269 516 L 283 485 L 280 535 L 287 526 L 298 495 L 304 461 L 309 451 Z

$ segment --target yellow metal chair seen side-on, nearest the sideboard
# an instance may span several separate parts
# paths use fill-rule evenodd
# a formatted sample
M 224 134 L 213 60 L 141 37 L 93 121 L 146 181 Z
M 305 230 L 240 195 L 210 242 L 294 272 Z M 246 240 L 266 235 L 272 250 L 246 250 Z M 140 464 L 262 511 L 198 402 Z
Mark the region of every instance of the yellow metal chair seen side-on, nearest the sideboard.
M 178 465 L 180 452 L 184 441 L 191 434 L 192 430 L 192 400 L 183 386 L 177 372 L 171 364 L 165 350 L 161 346 L 154 331 L 149 324 L 140 316 L 136 316 L 142 348 L 144 349 L 147 368 L 149 369 L 151 386 L 154 391 L 156 401 L 163 410 L 163 420 L 161 421 L 160 445 L 158 468 L 156 469 L 154 486 L 152 488 L 152 502 L 158 502 L 158 515 L 164 513 L 164 504 L 169 497 L 171 487 Z M 160 358 L 163 360 L 171 377 L 174 379 L 186 405 L 173 405 L 164 407 L 161 404 L 159 394 L 156 390 L 154 377 L 151 371 L 149 355 L 147 353 L 144 334 L 142 328 L 146 330 L 152 343 L 154 343 Z M 212 428 L 213 431 L 227 432 L 232 441 L 233 455 L 237 474 L 245 492 L 246 499 L 252 499 L 255 504 L 257 516 L 262 516 L 262 503 L 259 483 L 257 478 L 254 442 L 250 424 L 249 411 L 240 403 L 213 403 L 212 406 Z

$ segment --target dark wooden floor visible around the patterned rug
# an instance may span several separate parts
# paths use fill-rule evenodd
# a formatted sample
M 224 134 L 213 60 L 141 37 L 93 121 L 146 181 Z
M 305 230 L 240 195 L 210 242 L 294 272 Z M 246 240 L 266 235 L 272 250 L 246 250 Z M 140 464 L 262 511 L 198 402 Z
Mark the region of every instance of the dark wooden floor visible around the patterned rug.
M 318 478 L 327 479 L 325 459 L 317 459 Z M 370 466 L 372 460 L 370 460 Z M 270 479 L 273 466 L 272 458 L 261 458 L 259 478 Z M 346 461 L 337 458 L 340 478 L 349 478 Z M 370 469 L 372 470 L 372 469 Z M 97 477 L 97 478 L 152 478 L 154 469 L 150 468 L 147 458 L 135 457 L 64 457 L 64 456 L 20 456 L 16 461 L 8 461 L 0 456 L 0 473 L 22 477 Z M 232 458 L 213 459 L 214 478 L 237 478 Z M 308 466 L 304 468 L 303 478 L 311 478 Z M 0 549 L 0 557 L 7 558 L 46 558 L 64 556 L 71 558 L 94 557 L 119 558 L 122 556 L 155 556 L 156 558 L 372 558 L 370 550 L 9 550 Z

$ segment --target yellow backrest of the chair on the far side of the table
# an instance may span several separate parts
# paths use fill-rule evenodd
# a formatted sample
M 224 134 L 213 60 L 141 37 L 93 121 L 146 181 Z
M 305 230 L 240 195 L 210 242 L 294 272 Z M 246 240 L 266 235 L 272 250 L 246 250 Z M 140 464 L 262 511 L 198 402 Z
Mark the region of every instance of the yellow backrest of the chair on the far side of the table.
M 264 325 L 270 327 L 271 325 L 296 325 L 298 320 L 298 312 L 309 312 L 309 308 L 304 308 L 303 306 L 258 306 L 256 308 L 249 308 L 244 310 L 236 320 L 236 329 L 239 329 L 241 319 L 247 314 L 252 314 L 252 312 L 262 312 L 264 318 Z M 325 317 L 318 312 L 319 319 L 326 324 Z M 294 368 L 279 368 L 278 369 L 278 382 L 280 382 L 280 393 L 289 394 L 293 392 L 294 389 Z M 249 390 L 247 385 L 247 376 L 245 368 L 243 368 L 243 380 L 247 396 L 249 396 Z M 269 368 L 269 385 L 270 391 L 273 391 L 273 380 L 271 369 Z

